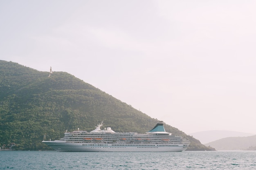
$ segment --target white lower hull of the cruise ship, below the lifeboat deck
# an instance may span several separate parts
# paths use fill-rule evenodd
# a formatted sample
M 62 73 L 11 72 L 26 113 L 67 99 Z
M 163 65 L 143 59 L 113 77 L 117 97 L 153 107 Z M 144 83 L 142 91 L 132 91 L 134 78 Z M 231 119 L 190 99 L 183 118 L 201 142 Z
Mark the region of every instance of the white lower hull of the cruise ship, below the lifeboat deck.
M 81 144 L 43 141 L 58 152 L 182 152 L 187 147 L 170 144 Z M 134 146 L 135 145 L 135 146 Z

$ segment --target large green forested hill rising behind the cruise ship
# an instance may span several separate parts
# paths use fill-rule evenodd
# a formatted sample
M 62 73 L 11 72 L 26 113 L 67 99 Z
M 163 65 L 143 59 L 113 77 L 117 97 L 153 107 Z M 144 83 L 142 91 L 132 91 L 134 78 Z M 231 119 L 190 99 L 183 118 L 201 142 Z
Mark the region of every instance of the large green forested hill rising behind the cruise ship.
M 49 149 L 41 141 L 65 130 L 93 130 L 104 121 L 116 132 L 146 132 L 158 122 L 128 104 L 65 72 L 37 71 L 0 60 L 0 146 Z M 191 141 L 188 150 L 214 150 L 169 125 L 165 129 Z

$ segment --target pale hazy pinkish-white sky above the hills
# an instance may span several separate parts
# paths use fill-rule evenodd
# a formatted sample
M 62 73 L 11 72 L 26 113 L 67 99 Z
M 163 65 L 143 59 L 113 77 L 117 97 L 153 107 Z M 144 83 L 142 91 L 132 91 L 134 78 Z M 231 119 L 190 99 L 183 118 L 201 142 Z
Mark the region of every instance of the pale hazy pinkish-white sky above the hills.
M 187 134 L 256 134 L 255 9 L 255 0 L 0 0 L 0 60 L 70 73 Z

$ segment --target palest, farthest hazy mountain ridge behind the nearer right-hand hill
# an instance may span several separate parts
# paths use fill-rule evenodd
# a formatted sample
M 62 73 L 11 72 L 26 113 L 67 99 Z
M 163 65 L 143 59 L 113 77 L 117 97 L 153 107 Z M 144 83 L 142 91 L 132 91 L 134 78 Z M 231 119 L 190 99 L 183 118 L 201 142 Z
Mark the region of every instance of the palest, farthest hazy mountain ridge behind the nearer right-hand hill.
M 190 133 L 189 135 L 193 136 L 195 139 L 198 139 L 202 144 L 207 144 L 209 142 L 226 137 L 247 137 L 255 134 L 229 130 L 207 130 L 202 132 Z

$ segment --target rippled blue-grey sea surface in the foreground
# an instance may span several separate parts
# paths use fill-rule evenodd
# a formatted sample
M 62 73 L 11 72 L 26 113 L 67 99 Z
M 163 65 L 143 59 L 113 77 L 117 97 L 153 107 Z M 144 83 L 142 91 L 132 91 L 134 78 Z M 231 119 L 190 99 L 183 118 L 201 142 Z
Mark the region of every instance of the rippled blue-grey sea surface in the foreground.
M 256 170 L 256 151 L 49 152 L 0 151 L 13 170 Z

